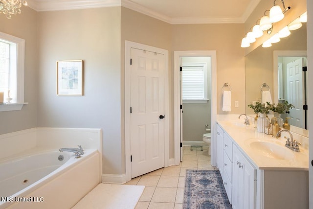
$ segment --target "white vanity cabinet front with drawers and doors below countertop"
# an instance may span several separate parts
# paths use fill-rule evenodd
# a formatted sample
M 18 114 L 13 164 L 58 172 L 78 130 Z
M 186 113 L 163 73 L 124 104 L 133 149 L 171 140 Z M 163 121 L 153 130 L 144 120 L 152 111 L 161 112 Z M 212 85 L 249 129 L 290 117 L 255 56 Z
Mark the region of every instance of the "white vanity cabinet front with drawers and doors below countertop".
M 217 164 L 233 209 L 256 208 L 256 169 L 217 124 Z

